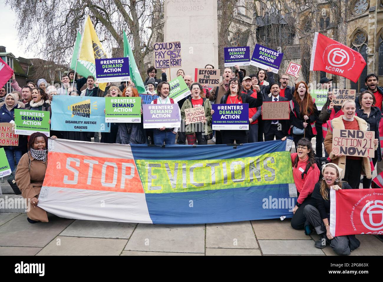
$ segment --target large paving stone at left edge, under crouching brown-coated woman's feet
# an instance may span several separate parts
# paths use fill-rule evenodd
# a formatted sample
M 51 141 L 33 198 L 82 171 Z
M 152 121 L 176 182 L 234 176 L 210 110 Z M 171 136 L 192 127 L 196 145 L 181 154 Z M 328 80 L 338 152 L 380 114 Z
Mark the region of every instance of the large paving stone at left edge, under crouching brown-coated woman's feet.
M 49 222 L 30 224 L 26 218 L 21 214 L 0 226 L 0 246 L 44 247 L 73 221 L 48 214 Z

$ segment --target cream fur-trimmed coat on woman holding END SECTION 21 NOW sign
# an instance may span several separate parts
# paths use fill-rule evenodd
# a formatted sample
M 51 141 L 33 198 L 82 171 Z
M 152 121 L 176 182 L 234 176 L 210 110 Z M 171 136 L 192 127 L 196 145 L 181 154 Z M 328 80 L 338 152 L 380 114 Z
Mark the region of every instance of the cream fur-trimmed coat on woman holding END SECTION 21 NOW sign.
M 340 117 L 337 117 L 332 120 L 332 129 L 345 129 L 344 123 L 343 123 L 343 117 L 344 115 L 341 115 Z M 359 130 L 367 130 L 368 125 L 364 119 L 361 119 L 360 117 L 357 117 L 356 115 L 354 116 L 354 119 L 358 121 Z M 375 145 L 375 150 L 376 148 L 378 148 L 377 145 Z M 342 178 L 344 178 L 344 172 L 346 170 L 346 156 L 337 158 L 335 157 L 334 153 L 332 153 L 332 130 L 327 131 L 326 138 L 324 139 L 324 149 L 329 154 L 331 162 L 335 163 L 336 165 L 338 165 L 340 168 L 343 169 Z M 370 158 L 368 157 L 362 158 L 362 175 L 365 175 L 368 179 L 372 178 Z

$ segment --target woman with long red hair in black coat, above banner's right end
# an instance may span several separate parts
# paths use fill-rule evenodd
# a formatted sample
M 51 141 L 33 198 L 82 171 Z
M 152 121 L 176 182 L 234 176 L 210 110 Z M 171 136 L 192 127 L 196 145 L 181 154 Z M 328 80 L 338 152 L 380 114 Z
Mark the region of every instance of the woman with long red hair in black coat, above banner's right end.
M 306 137 L 309 141 L 316 135 L 315 121 L 319 117 L 315 101 L 311 97 L 306 82 L 300 81 L 295 85 L 293 100 L 290 103 L 293 112 L 293 139 L 294 143 Z M 295 145 L 296 147 L 296 145 Z

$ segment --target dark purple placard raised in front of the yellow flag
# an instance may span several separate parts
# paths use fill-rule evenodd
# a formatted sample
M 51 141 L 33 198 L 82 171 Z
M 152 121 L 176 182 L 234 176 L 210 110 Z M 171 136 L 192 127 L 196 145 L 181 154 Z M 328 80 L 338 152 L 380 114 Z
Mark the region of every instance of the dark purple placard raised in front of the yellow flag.
M 96 79 L 98 82 L 130 80 L 129 58 L 96 59 Z

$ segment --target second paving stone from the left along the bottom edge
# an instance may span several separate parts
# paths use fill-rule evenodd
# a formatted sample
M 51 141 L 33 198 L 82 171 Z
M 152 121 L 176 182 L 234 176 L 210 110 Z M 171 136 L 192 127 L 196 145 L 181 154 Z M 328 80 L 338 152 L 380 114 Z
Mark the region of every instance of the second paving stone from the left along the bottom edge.
M 119 256 L 126 242 L 126 239 L 59 236 L 44 247 L 38 256 Z

